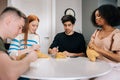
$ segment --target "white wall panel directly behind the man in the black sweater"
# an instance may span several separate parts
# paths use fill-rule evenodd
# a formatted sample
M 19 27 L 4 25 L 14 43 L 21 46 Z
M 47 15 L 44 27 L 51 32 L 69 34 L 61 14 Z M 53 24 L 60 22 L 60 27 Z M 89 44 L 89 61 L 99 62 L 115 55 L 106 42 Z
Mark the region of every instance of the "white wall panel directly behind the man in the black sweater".
M 76 13 L 75 31 L 82 32 L 82 0 L 56 0 L 56 33 L 64 31 L 61 22 L 64 11 L 72 8 Z

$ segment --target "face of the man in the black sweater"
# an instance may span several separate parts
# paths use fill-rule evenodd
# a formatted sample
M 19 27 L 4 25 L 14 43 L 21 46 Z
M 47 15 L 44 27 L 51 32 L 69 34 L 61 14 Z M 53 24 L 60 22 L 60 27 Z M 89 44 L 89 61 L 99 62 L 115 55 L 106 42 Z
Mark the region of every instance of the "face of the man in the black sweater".
M 73 32 L 73 24 L 70 21 L 65 22 L 64 24 L 64 30 L 66 34 L 70 34 Z

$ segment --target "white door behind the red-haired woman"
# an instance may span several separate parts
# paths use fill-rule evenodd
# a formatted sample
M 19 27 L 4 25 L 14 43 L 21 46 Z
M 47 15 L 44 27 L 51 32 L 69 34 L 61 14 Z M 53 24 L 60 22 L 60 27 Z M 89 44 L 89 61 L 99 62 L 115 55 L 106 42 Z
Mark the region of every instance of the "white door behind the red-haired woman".
M 27 16 L 35 14 L 39 17 L 37 33 L 40 35 L 40 49 L 47 53 L 51 36 L 51 0 L 11 0 L 9 5 L 20 9 Z

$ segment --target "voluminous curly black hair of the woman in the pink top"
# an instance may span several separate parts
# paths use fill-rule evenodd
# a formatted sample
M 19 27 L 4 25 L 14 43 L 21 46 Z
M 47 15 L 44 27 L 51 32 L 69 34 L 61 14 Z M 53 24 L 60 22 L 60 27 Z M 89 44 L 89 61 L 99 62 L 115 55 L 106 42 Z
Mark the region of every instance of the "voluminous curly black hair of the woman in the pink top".
M 118 10 L 117 7 L 113 6 L 113 5 L 102 5 L 99 8 L 95 9 L 91 15 L 91 21 L 93 23 L 93 25 L 95 25 L 96 27 L 98 27 L 99 25 L 97 25 L 96 23 L 96 18 L 95 18 L 95 12 L 99 11 L 100 15 L 102 18 L 105 19 L 105 21 L 111 25 L 111 26 L 118 26 L 120 25 L 120 11 Z

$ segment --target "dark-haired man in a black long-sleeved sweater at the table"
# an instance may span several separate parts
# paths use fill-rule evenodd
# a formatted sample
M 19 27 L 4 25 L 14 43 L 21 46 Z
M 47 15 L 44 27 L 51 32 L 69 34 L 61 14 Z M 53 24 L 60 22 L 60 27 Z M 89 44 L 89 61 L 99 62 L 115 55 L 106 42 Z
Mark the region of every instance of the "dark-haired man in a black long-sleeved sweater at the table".
M 85 40 L 81 33 L 73 31 L 75 17 L 65 15 L 61 18 L 64 25 L 64 32 L 58 33 L 48 50 L 49 54 L 63 52 L 67 57 L 85 56 Z

